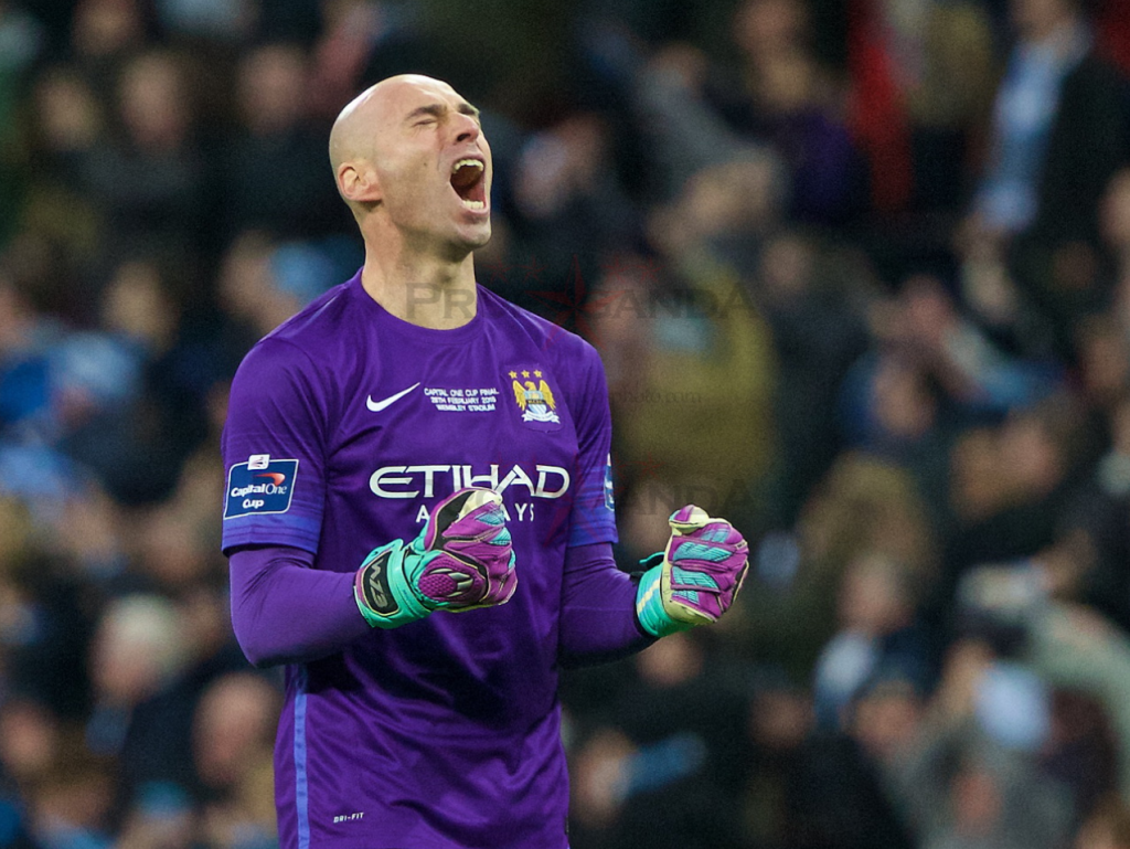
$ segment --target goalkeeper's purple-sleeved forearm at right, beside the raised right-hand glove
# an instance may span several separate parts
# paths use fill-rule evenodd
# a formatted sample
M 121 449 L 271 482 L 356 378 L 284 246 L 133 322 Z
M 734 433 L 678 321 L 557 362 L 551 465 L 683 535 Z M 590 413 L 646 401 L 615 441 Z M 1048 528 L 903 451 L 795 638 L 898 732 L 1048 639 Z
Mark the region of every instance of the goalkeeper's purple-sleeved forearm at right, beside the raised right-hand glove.
M 608 543 L 565 549 L 558 659 L 563 666 L 616 660 L 650 646 L 635 614 L 636 583 L 616 568 Z

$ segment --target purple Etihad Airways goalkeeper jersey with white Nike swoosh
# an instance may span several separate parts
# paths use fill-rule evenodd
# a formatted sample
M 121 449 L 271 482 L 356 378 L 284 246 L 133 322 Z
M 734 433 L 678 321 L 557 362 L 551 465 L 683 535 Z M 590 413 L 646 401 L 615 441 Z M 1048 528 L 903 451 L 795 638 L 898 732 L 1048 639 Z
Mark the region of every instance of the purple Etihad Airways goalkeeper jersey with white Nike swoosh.
M 596 350 L 481 287 L 473 319 L 432 330 L 388 313 L 358 275 L 252 349 L 224 431 L 226 552 L 294 546 L 353 572 L 444 496 L 489 486 L 519 575 L 504 606 L 287 667 L 284 847 L 567 844 L 563 563 L 568 546 L 616 539 L 610 439 Z

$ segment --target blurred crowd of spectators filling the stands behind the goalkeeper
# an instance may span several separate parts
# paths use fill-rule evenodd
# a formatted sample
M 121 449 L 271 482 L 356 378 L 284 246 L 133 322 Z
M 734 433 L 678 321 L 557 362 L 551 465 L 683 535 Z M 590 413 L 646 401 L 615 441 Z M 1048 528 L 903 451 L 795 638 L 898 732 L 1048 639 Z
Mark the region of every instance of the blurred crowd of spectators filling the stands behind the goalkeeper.
M 403 70 L 601 350 L 623 565 L 754 553 L 566 675 L 574 849 L 1130 847 L 1128 69 L 1121 0 L 0 0 L 0 847 L 276 844 L 217 440 Z

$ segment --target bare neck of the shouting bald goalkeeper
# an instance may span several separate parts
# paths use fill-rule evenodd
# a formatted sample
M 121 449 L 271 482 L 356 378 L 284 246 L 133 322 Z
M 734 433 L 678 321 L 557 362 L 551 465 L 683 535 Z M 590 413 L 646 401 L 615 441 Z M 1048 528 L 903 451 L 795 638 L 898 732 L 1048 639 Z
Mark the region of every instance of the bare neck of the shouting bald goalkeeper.
M 365 240 L 360 284 L 370 297 L 398 319 L 435 330 L 452 330 L 475 318 L 475 257 L 414 250 L 403 239 Z

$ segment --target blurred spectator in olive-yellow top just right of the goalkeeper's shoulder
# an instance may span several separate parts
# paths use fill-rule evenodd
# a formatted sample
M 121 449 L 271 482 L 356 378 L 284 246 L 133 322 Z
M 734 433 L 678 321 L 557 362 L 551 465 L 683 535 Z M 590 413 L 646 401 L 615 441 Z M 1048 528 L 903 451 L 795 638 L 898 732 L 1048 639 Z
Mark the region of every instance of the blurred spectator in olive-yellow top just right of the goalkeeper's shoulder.
M 774 214 L 772 164 L 748 159 L 692 177 L 653 231 L 670 262 L 631 259 L 606 269 L 593 328 L 623 371 L 611 389 L 621 464 L 650 468 L 679 493 L 741 510 L 767 469 L 772 353 L 765 323 L 733 268 L 725 239 L 755 234 Z M 680 222 L 679 228 L 670 225 Z M 646 349 L 638 343 L 646 339 Z M 628 355 L 618 352 L 627 346 Z M 740 375 L 740 376 L 739 376 Z M 711 421 L 695 459 L 671 438 Z

